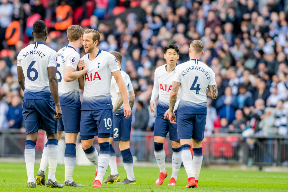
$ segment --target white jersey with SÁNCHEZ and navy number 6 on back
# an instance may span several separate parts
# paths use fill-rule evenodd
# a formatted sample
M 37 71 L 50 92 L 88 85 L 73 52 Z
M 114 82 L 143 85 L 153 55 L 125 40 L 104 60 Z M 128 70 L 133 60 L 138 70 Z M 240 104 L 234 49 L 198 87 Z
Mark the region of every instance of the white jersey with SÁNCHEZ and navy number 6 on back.
M 47 67 L 56 67 L 57 53 L 42 42 L 34 42 L 22 49 L 17 65 L 25 77 L 24 99 L 54 101 L 49 88 Z

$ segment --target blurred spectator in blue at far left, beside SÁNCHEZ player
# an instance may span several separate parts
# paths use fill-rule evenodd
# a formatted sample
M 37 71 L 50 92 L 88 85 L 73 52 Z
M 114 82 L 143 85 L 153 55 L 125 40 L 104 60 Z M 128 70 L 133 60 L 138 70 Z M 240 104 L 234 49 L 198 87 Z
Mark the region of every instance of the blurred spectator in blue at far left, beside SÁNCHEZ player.
M 20 129 L 22 127 L 22 104 L 20 103 L 20 98 L 17 95 L 12 97 L 11 106 L 7 113 L 7 120 L 9 128 Z

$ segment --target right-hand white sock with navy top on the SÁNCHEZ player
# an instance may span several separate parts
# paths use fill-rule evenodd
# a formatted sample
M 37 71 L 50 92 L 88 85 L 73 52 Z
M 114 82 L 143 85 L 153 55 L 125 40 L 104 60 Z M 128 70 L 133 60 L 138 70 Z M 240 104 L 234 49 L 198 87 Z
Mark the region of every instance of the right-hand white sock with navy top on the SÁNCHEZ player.
M 48 179 L 56 181 L 55 173 L 58 163 L 58 140 L 57 139 L 48 139 L 47 141 L 47 156 L 48 156 Z

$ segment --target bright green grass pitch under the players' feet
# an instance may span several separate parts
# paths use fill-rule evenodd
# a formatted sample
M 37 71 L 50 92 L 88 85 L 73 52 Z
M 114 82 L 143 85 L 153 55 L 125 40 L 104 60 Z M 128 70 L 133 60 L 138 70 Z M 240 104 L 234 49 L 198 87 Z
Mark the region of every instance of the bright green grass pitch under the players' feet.
M 39 164 L 35 164 L 35 177 Z M 103 184 L 102 189 L 92 188 L 95 167 L 75 166 L 73 179 L 84 187 L 64 187 L 51 189 L 46 186 L 37 186 L 35 189 L 27 188 L 27 174 L 24 163 L 0 163 L 0 191 L 288 191 L 288 174 L 274 172 L 253 171 L 228 171 L 201 169 L 199 188 L 184 188 L 187 184 L 187 174 L 183 167 L 180 168 L 177 186 L 167 186 L 172 173 L 172 168 L 167 168 L 168 178 L 164 179 L 163 185 L 156 186 L 155 181 L 159 176 L 158 168 L 134 167 L 136 185 Z M 106 172 L 103 180 L 109 176 L 110 169 Z M 118 167 L 121 181 L 126 178 L 124 167 Z M 48 176 L 48 174 L 46 173 Z M 47 178 L 47 177 L 46 177 Z M 58 165 L 56 178 L 60 183 L 64 182 L 64 165 Z

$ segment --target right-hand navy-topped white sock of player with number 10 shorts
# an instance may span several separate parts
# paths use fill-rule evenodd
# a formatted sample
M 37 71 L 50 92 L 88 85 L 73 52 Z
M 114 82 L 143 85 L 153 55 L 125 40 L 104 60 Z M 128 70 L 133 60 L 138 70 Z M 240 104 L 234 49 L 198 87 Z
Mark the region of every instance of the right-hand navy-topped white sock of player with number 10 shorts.
M 110 146 L 109 142 L 99 143 L 100 153 L 98 158 L 98 174 L 95 180 L 99 180 L 101 183 L 103 181 L 103 177 L 106 173 L 109 161 L 110 161 Z

